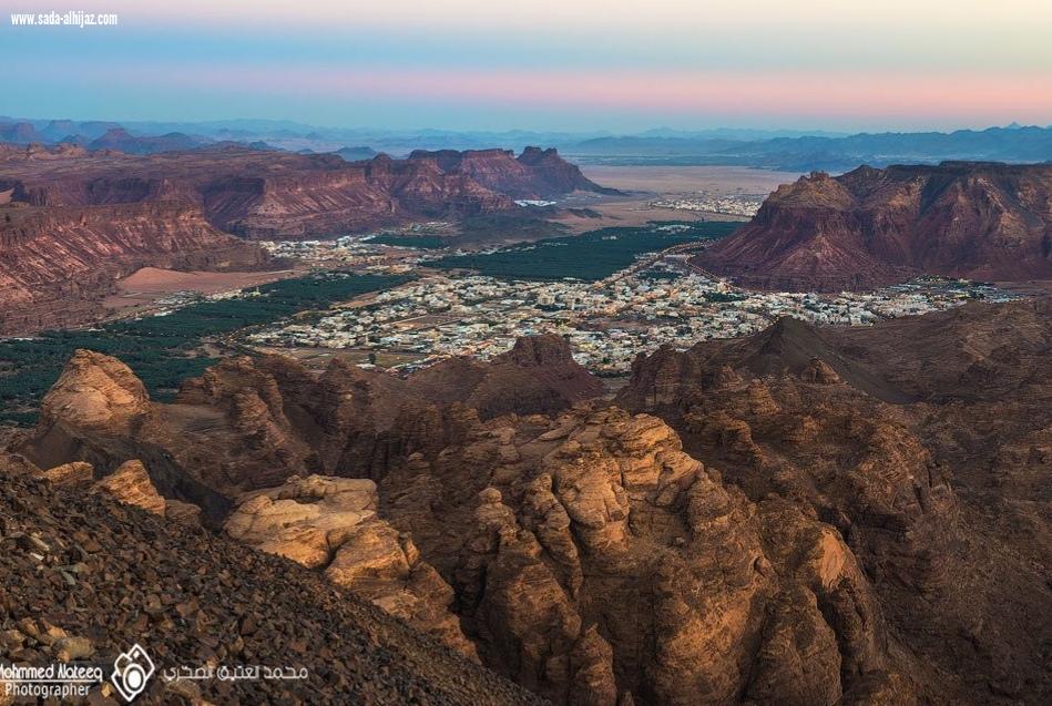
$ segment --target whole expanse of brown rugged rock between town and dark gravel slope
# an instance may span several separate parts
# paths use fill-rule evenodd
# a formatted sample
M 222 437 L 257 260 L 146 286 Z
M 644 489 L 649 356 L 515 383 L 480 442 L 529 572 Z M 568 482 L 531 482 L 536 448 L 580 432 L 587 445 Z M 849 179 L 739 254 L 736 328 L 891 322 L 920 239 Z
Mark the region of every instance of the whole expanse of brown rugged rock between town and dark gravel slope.
M 555 704 L 1038 704 L 1049 306 L 783 319 L 613 400 L 558 337 L 409 380 L 231 359 L 174 403 L 83 351 L 12 451 L 156 518 L 137 461 L 202 532 Z

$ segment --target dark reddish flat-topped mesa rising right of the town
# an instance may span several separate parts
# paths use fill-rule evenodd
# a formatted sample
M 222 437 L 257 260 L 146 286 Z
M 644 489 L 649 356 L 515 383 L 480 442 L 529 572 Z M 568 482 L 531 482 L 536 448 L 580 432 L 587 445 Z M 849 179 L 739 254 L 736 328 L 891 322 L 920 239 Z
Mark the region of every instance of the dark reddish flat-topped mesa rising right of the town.
M 866 289 L 918 274 L 1052 277 L 1052 166 L 946 162 L 779 187 L 697 264 L 745 286 Z

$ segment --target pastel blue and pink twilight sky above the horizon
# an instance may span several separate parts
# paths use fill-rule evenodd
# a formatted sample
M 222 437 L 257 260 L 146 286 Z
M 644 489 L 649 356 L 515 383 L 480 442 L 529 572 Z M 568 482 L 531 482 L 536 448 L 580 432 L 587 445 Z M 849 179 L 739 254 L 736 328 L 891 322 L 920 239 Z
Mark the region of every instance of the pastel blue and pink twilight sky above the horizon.
M 1049 0 L 0 0 L 0 114 L 411 130 L 1052 124 Z M 74 3 L 75 4 L 75 3 Z

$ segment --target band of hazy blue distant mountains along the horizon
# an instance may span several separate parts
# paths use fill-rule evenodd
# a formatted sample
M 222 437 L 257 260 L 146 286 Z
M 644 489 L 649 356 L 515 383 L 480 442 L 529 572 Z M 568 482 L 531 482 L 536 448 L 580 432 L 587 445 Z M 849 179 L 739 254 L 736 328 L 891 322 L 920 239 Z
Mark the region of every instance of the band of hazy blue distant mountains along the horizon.
M 639 134 L 541 131 L 458 132 L 333 129 L 290 121 L 233 120 L 203 123 L 113 123 L 21 120 L 0 116 L 0 142 L 72 142 L 90 150 L 133 154 L 236 142 L 288 151 L 336 152 L 364 158 L 371 150 L 406 155 L 413 150 L 521 150 L 548 144 L 582 162 L 604 164 L 737 165 L 773 170 L 844 172 L 860 164 L 987 160 L 1010 163 L 1052 160 L 1052 129 L 1021 126 L 953 132 L 833 133 L 826 131 L 655 129 Z M 357 149 L 357 151 L 355 151 Z

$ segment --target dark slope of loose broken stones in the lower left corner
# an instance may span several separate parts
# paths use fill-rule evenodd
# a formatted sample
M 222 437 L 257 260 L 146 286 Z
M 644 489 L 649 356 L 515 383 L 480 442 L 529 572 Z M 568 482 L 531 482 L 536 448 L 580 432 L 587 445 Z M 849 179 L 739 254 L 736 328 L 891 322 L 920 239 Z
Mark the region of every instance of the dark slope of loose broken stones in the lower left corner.
M 82 661 L 109 675 L 139 643 L 157 669 L 143 704 L 541 703 L 294 562 L 31 471 L 0 460 L 4 664 Z M 308 677 L 163 677 L 206 664 Z M 89 703 L 124 702 L 106 684 Z

